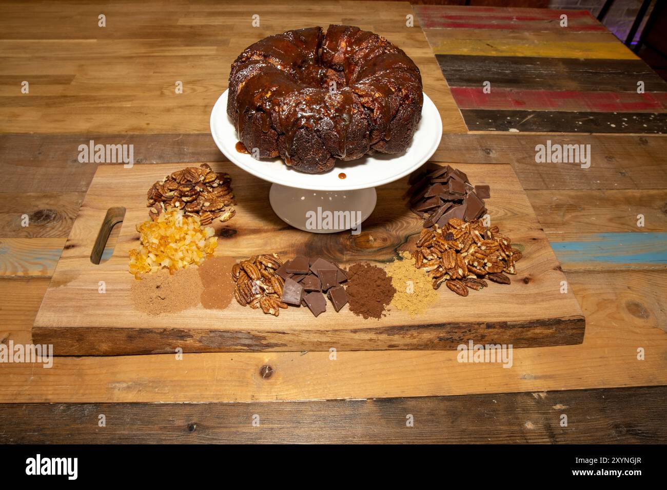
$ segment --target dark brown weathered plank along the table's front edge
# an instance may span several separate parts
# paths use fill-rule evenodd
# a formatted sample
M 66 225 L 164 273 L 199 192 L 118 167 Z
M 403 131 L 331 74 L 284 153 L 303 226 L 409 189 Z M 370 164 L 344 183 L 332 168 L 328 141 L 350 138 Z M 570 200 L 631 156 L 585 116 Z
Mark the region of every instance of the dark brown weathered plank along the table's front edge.
M 665 443 L 666 396 L 667 387 L 637 387 L 286 403 L 5 404 L 0 421 L 11 423 L 2 423 L 0 443 Z

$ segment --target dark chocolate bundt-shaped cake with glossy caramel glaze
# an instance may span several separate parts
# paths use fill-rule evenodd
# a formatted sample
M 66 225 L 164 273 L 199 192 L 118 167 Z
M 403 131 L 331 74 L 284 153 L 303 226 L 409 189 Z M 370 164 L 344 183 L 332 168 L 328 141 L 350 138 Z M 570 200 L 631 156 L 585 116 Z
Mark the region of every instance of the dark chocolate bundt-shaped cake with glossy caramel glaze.
M 231 65 L 227 114 L 253 156 L 317 173 L 337 159 L 403 153 L 422 103 L 422 76 L 406 53 L 372 32 L 330 25 L 247 47 Z

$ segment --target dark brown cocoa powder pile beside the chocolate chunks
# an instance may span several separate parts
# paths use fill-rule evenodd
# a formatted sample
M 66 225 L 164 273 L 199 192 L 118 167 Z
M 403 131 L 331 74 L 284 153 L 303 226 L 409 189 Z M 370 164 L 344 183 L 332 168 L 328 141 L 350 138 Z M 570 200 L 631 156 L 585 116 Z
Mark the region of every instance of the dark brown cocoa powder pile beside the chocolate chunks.
M 345 290 L 350 311 L 364 319 L 381 318 L 396 293 L 384 269 L 369 263 L 350 266 Z

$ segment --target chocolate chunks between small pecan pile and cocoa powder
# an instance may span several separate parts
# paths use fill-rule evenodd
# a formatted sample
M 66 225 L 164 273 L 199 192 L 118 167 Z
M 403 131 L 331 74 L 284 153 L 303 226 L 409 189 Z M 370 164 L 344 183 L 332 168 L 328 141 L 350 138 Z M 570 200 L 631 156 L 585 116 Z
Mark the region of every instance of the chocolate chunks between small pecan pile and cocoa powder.
M 275 273 L 285 281 L 280 301 L 287 305 L 307 306 L 315 317 L 327 309 L 324 293 L 336 311 L 348 303 L 348 295 L 341 285 L 348 276 L 336 263 L 321 257 L 297 255 Z

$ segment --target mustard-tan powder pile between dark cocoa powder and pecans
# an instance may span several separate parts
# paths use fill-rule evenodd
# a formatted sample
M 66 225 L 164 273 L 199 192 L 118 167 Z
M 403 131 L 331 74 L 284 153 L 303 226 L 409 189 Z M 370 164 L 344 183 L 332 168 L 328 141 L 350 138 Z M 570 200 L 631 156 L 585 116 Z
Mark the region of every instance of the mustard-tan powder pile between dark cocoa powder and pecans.
M 426 312 L 438 299 L 438 291 L 433 289 L 431 278 L 424 269 L 416 269 L 409 252 L 402 252 L 386 270 L 396 288 L 392 305 L 408 311 L 411 317 Z

